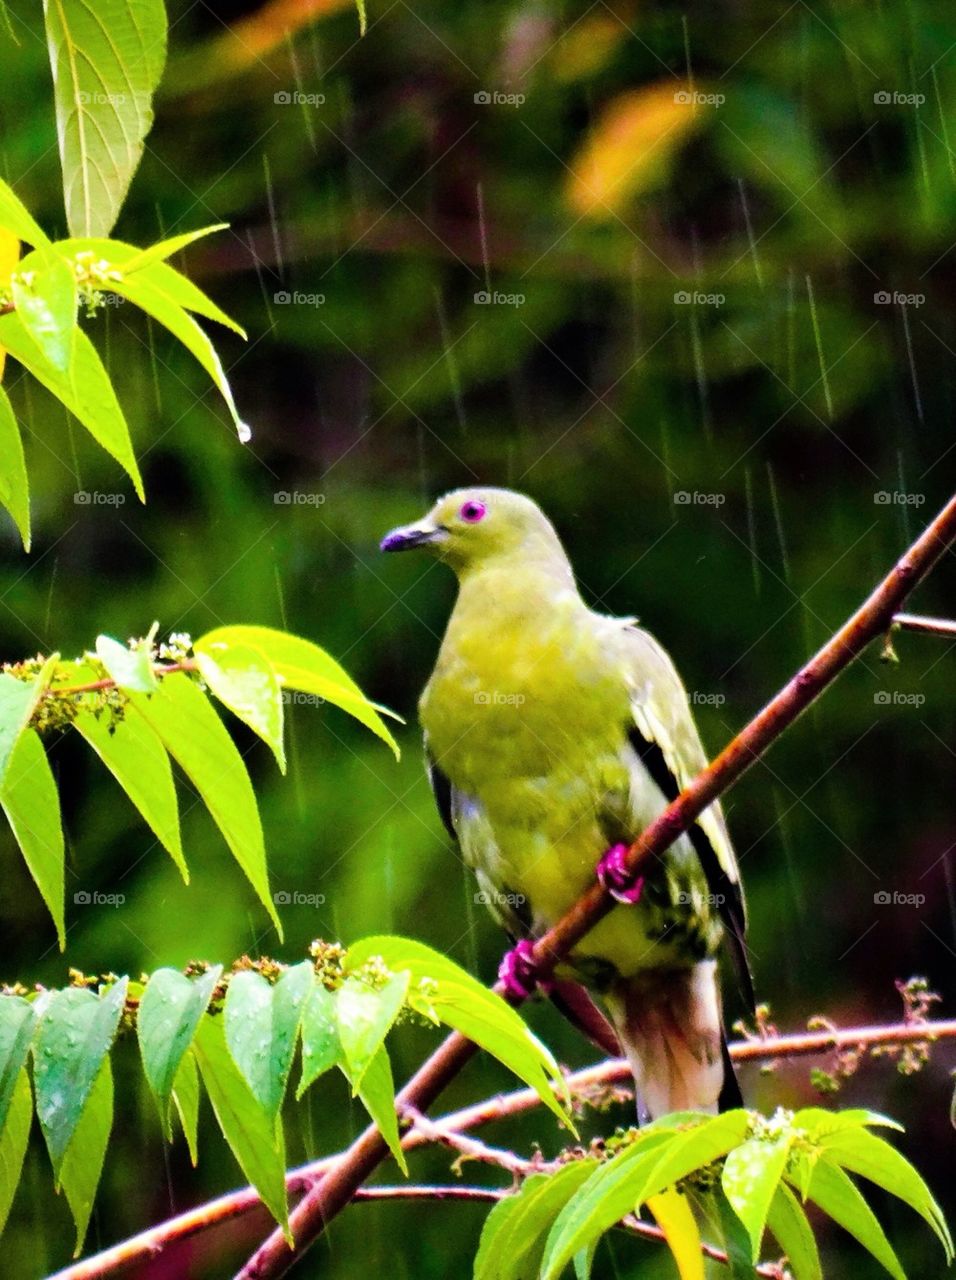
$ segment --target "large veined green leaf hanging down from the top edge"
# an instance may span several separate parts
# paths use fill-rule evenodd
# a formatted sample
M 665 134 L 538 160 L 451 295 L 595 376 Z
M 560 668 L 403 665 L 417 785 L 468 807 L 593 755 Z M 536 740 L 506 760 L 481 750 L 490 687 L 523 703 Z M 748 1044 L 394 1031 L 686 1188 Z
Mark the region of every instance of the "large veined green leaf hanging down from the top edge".
M 67 221 L 74 236 L 115 223 L 152 125 L 166 59 L 163 0 L 46 0 Z

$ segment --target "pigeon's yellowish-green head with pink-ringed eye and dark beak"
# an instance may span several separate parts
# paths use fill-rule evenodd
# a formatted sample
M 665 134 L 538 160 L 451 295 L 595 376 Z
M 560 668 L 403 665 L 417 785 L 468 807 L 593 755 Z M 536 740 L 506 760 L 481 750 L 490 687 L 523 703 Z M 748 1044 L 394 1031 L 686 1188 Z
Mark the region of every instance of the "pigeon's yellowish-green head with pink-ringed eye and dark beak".
M 567 563 L 558 535 L 541 508 L 511 489 L 456 489 L 413 525 L 393 529 L 381 550 L 429 550 L 461 575 L 514 556 Z

